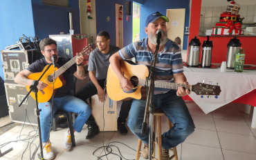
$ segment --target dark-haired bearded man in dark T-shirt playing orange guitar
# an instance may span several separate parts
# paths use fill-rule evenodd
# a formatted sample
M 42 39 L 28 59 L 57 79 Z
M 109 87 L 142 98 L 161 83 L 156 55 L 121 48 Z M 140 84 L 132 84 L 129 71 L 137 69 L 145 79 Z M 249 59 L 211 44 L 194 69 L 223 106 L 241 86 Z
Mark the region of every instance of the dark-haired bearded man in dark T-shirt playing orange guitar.
M 48 75 L 49 73 L 53 74 L 54 72 L 54 68 L 53 66 L 51 66 L 52 68 L 49 68 L 49 70 L 46 71 L 46 78 L 43 77 L 37 85 L 37 88 L 39 89 L 39 96 L 41 95 L 43 97 L 40 99 L 41 102 L 39 101 L 39 109 L 42 110 L 40 112 L 40 125 L 42 130 L 44 159 L 53 159 L 54 154 L 51 149 L 51 142 L 49 138 L 51 121 L 55 112 L 59 109 L 62 109 L 68 112 L 77 113 L 78 116 L 73 123 L 73 128 L 74 132 L 81 132 L 84 123 L 91 115 L 91 108 L 84 101 L 73 97 L 71 94 L 73 86 L 70 75 L 75 76 L 77 79 L 84 79 L 85 76 L 84 67 L 82 66 L 82 61 L 84 59 L 84 57 L 82 56 L 82 52 L 77 54 L 77 56 L 73 59 L 69 59 L 68 57 L 57 57 L 57 43 L 55 40 L 48 38 L 42 39 L 42 41 L 40 41 L 39 43 L 39 46 L 42 54 L 44 55 L 44 58 L 35 61 L 30 66 L 28 66 L 27 69 L 19 72 L 15 77 L 15 82 L 25 86 L 32 86 L 33 83 L 35 83 L 35 79 L 39 79 L 44 68 L 47 68 L 47 66 L 53 62 L 52 57 L 54 56 L 56 57 L 56 67 L 63 66 L 63 68 L 60 68 L 57 71 L 64 72 L 60 75 L 60 77 L 63 77 L 66 83 L 64 83 L 63 80 L 60 81 L 60 79 L 59 81 L 57 81 L 58 78 L 56 78 L 55 83 L 49 82 L 51 79 L 51 75 Z M 76 63 L 76 65 L 74 63 Z M 52 72 L 51 69 L 53 69 Z M 57 71 L 55 71 L 56 75 L 60 73 Z M 36 75 L 38 75 L 38 77 Z M 60 88 L 53 91 L 53 86 L 59 86 Z M 51 92 L 48 92 L 48 90 L 50 90 Z M 53 92 L 55 92 L 53 98 L 51 98 L 50 100 L 44 100 L 44 94 L 52 95 Z M 72 142 L 70 131 L 67 130 L 64 134 L 63 147 L 65 150 L 70 150 L 71 146 Z

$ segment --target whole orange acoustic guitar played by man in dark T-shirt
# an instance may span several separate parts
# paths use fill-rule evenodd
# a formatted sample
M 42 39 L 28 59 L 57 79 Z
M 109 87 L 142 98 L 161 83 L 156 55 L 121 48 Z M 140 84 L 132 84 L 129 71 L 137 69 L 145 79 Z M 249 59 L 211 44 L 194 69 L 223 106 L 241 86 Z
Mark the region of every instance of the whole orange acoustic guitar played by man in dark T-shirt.
M 80 55 L 84 56 L 86 54 L 89 54 L 89 52 L 91 52 L 92 50 L 93 49 L 91 48 L 91 44 L 89 44 L 88 46 L 86 46 L 86 48 L 84 48 L 82 50 L 82 52 L 78 53 L 75 57 L 73 57 L 71 60 L 66 62 L 62 67 L 54 68 L 53 66 L 50 66 L 50 68 L 46 71 L 46 73 L 44 74 L 42 79 L 40 79 L 40 81 L 46 83 L 47 86 L 43 90 L 38 90 L 37 101 L 39 103 L 44 103 L 46 101 L 49 101 L 53 95 L 53 86 L 54 86 L 54 90 L 55 90 L 57 88 L 62 87 L 66 83 L 66 81 L 62 78 L 62 73 L 65 72 L 68 68 L 70 68 L 75 63 L 75 59 L 77 56 L 80 56 Z M 49 65 L 45 66 L 44 70 L 46 70 L 46 68 L 48 66 Z M 28 79 L 33 79 L 33 80 L 39 79 L 39 77 L 41 77 L 44 70 L 42 72 L 36 72 L 33 74 L 29 74 Z M 55 77 L 55 80 L 54 80 L 54 85 L 53 85 L 54 77 Z M 28 90 L 28 92 L 29 92 L 30 86 L 26 86 L 26 90 Z M 33 99 L 35 99 L 35 92 L 30 92 L 30 96 L 33 97 Z

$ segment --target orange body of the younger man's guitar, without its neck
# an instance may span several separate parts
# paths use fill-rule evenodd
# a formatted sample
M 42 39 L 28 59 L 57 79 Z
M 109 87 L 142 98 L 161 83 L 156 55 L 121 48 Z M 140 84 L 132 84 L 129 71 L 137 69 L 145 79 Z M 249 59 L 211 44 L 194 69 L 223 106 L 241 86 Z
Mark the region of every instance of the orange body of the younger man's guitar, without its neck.
M 44 68 L 44 70 L 46 70 L 48 66 L 46 66 Z M 36 72 L 33 74 L 28 75 L 28 79 L 33 79 L 33 80 L 38 80 L 39 77 L 41 77 L 42 73 L 44 72 L 44 70 L 42 72 Z M 55 68 L 55 72 L 57 71 L 57 68 Z M 44 103 L 46 101 L 49 101 L 53 95 L 53 82 L 51 81 L 51 79 L 53 79 L 53 76 L 51 74 L 53 74 L 54 72 L 54 68 L 53 66 L 51 66 L 46 73 L 44 74 L 44 76 L 42 77 L 42 79 L 40 79 L 40 81 L 48 84 L 46 86 L 46 88 L 44 88 L 43 90 L 38 90 L 37 92 L 37 101 L 39 103 Z M 59 77 L 57 77 L 55 79 L 54 82 L 54 90 L 57 88 L 60 88 L 63 86 L 63 79 L 61 80 Z M 28 92 L 30 91 L 30 86 L 26 86 L 26 90 L 28 90 Z M 30 92 L 30 96 L 33 97 L 33 99 L 35 99 L 35 92 Z

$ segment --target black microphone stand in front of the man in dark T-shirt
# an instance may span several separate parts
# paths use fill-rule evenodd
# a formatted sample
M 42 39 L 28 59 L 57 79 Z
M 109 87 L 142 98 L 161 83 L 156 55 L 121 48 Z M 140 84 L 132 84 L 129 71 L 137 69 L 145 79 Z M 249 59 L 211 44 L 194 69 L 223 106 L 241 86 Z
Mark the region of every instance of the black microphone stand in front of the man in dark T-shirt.
M 38 130 L 39 130 L 39 141 L 40 141 L 41 159 L 44 159 L 44 154 L 43 154 L 43 143 L 42 143 L 42 137 L 41 137 L 41 126 L 40 126 L 40 118 L 39 118 L 41 110 L 38 109 L 38 101 L 37 101 L 37 92 L 38 92 L 37 85 L 38 85 L 40 79 L 42 79 L 42 77 L 46 73 L 46 71 L 51 67 L 51 65 L 52 65 L 52 63 L 50 63 L 48 65 L 48 67 L 46 68 L 46 70 L 44 70 L 44 72 L 41 75 L 41 77 L 39 77 L 39 79 L 37 79 L 37 81 L 33 82 L 33 84 L 30 86 L 30 91 L 28 92 L 28 94 L 26 94 L 26 97 L 24 97 L 24 99 L 21 101 L 21 103 L 19 103 L 19 107 L 20 107 L 21 104 L 26 100 L 26 98 L 28 97 L 30 92 L 35 92 L 35 102 L 36 102 L 36 106 L 37 106 L 37 124 L 38 124 Z M 55 79 L 55 77 L 53 77 L 53 79 Z

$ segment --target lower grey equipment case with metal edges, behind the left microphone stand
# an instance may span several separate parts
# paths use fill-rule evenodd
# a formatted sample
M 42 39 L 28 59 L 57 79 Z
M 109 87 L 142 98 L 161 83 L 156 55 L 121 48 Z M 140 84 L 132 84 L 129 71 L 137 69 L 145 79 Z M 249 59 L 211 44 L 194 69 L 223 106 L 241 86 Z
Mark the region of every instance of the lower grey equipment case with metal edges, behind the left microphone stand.
M 37 126 L 36 103 L 32 97 L 28 97 L 21 106 L 19 104 L 26 97 L 28 91 L 25 86 L 17 83 L 4 83 L 6 99 L 9 107 L 9 116 L 17 123 L 27 123 Z M 27 101 L 28 100 L 28 101 Z M 25 110 L 26 109 L 26 110 Z

